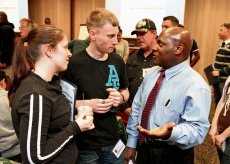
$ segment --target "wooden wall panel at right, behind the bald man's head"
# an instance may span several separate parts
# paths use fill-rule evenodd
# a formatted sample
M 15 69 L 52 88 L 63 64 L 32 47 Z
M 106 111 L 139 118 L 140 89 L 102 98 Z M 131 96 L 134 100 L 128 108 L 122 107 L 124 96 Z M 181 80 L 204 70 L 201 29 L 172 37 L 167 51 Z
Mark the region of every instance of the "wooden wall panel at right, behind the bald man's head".
M 201 58 L 195 70 L 204 78 L 203 69 L 215 60 L 219 27 L 230 22 L 229 8 L 229 0 L 186 0 L 184 25 L 198 43 Z

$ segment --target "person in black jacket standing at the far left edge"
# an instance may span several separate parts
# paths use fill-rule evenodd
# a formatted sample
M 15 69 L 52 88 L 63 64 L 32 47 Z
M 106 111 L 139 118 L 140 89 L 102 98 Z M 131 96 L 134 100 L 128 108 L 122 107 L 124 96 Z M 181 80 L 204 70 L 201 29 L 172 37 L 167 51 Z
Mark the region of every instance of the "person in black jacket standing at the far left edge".
M 0 11 L 0 69 L 11 64 L 14 46 L 14 25 L 8 22 L 5 12 Z

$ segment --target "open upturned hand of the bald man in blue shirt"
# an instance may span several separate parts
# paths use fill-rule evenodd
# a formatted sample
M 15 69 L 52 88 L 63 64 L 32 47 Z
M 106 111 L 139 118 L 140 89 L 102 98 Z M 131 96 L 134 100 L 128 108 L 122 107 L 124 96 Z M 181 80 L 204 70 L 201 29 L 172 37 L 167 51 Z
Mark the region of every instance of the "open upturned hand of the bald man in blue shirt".
M 152 130 L 146 130 L 140 125 L 137 126 L 137 129 L 140 133 L 145 135 L 148 138 L 152 139 L 168 139 L 171 136 L 173 127 L 176 126 L 174 122 L 168 123 L 166 125 L 154 128 Z

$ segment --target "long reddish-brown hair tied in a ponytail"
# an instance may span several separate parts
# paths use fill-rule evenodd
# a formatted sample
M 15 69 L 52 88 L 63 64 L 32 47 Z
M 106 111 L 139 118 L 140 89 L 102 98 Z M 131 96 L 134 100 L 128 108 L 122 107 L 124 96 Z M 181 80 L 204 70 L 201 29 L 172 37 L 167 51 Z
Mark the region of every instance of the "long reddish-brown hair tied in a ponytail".
M 27 37 L 19 37 L 15 41 L 13 56 L 13 82 L 9 91 L 10 104 L 21 81 L 34 69 L 34 64 L 41 56 L 41 45 L 50 44 L 55 48 L 64 38 L 64 33 L 50 25 L 33 28 Z

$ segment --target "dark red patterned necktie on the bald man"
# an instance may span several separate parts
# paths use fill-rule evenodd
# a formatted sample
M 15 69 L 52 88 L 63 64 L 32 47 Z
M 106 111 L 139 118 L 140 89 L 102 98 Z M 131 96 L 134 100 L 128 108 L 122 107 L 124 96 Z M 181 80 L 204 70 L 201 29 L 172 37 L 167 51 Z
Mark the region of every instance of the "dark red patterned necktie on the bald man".
M 142 117 L 141 117 L 141 126 L 145 129 L 147 128 L 147 125 L 148 125 L 149 112 L 151 111 L 153 107 L 153 104 L 157 97 L 157 93 L 160 90 L 164 77 L 165 77 L 165 70 L 163 70 L 160 76 L 158 77 L 157 82 L 154 85 L 153 89 L 151 90 L 148 96 L 147 102 L 145 104 L 145 108 L 143 110 Z M 139 141 L 139 144 L 141 145 L 145 141 L 145 136 L 142 134 L 139 134 L 138 141 Z

